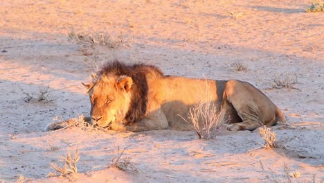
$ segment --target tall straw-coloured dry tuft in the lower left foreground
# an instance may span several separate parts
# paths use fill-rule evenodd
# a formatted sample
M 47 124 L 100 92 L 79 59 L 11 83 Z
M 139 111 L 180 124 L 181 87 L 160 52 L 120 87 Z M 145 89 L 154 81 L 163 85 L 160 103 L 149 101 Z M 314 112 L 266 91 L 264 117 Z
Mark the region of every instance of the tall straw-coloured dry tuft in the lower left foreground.
M 78 179 L 78 168 L 76 164 L 79 160 L 80 150 L 78 150 L 78 147 L 69 149 L 66 152 L 66 157 L 60 156 L 60 161 L 64 162 L 64 166 L 58 166 L 55 163 L 50 163 L 55 172 L 48 173 L 47 177 L 66 177 L 70 182 L 74 182 Z

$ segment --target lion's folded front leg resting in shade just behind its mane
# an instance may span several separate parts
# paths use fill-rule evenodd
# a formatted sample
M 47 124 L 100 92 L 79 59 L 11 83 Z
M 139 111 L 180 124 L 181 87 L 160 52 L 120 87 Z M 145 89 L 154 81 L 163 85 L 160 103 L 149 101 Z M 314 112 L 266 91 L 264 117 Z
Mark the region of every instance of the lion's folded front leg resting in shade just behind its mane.
M 164 112 L 159 108 L 154 112 L 150 112 L 141 121 L 134 122 L 125 126 L 125 128 L 132 132 L 141 132 L 148 130 L 163 130 L 169 127 L 168 120 Z

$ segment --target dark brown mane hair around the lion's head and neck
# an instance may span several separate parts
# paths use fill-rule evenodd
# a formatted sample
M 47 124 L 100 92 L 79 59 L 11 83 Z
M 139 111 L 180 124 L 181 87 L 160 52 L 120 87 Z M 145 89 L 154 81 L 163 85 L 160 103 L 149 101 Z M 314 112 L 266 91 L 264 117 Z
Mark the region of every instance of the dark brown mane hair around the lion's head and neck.
M 129 76 L 133 80 L 131 88 L 132 102 L 125 116 L 125 125 L 142 119 L 147 107 L 147 75 L 151 73 L 156 77 L 163 77 L 162 71 L 148 64 L 125 64 L 114 60 L 107 62 L 99 71 L 99 76 Z

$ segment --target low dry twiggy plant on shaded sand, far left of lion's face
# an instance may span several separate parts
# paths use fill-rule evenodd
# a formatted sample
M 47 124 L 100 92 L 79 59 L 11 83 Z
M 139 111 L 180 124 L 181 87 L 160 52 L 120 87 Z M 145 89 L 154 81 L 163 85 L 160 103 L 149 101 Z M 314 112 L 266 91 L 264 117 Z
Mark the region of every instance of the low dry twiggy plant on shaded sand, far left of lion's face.
M 35 96 L 35 94 L 30 94 L 28 92 L 25 92 L 24 89 L 19 87 L 21 92 L 25 95 L 23 98 L 26 103 L 36 101 L 41 103 L 53 103 L 56 101 L 57 98 L 53 98 L 51 96 L 51 92 L 49 91 L 49 87 L 40 87 L 38 94 Z

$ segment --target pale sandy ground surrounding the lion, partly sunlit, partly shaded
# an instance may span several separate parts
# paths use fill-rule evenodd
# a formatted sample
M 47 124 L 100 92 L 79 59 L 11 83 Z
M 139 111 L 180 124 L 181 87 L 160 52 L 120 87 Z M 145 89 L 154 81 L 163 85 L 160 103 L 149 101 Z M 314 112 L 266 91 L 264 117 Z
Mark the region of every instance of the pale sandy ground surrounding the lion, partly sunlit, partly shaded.
M 0 181 L 46 177 L 78 146 L 77 182 L 323 182 L 324 14 L 309 1 L 1 1 Z M 114 48 L 69 41 L 69 33 L 110 35 Z M 294 129 L 273 129 L 284 149 L 259 149 L 258 132 L 45 132 L 55 116 L 89 115 L 81 82 L 103 62 L 155 64 L 165 74 L 237 78 L 262 90 Z M 246 71 L 235 71 L 233 63 Z M 275 76 L 296 89 L 271 89 Z M 48 87 L 48 89 L 46 89 Z M 37 101 L 40 92 L 48 94 Z M 28 94 L 32 100 L 26 102 Z M 128 147 L 136 172 L 105 168 Z M 285 177 L 299 172 L 300 177 Z M 263 169 L 262 169 L 263 165 Z

